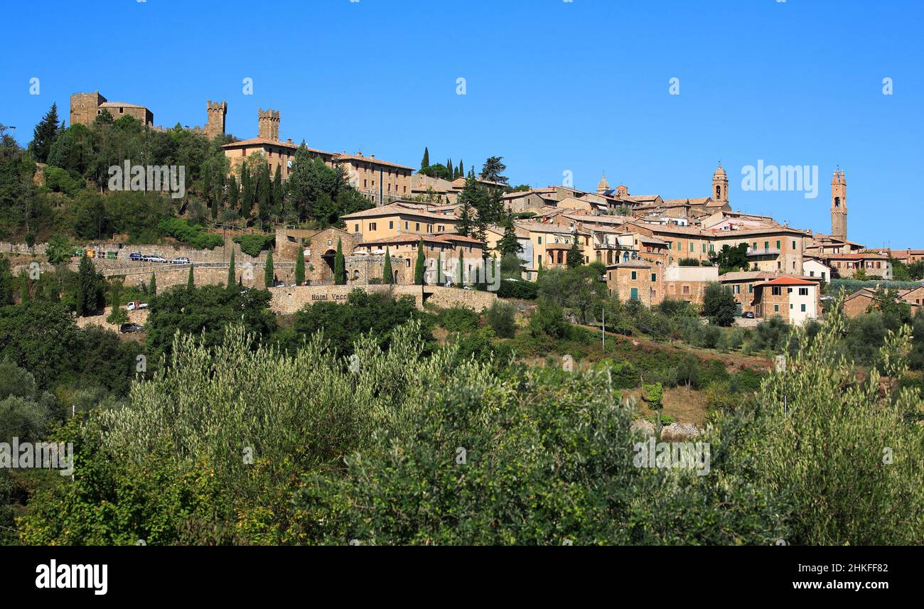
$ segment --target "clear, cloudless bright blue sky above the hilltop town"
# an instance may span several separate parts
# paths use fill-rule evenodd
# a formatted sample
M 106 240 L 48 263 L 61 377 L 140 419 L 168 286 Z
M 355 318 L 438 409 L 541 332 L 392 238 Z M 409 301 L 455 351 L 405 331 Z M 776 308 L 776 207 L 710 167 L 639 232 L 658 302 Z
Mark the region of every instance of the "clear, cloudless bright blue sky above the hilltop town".
M 23 144 L 75 91 L 164 126 L 225 99 L 238 138 L 273 107 L 284 139 L 413 167 L 425 145 L 466 167 L 502 155 L 512 184 L 571 171 L 592 190 L 605 170 L 632 194 L 705 197 L 721 160 L 733 207 L 824 232 L 839 164 L 850 238 L 924 248 L 920 0 L 33 0 L 4 17 L 0 122 Z M 743 191 L 759 160 L 818 165 L 818 198 Z

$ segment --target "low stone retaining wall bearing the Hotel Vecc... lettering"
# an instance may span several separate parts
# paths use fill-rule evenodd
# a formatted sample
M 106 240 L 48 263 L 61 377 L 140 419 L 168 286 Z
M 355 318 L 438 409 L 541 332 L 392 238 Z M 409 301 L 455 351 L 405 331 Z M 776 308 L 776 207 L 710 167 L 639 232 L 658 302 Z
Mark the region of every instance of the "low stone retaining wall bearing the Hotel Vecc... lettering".
M 160 286 L 160 284 L 158 284 Z M 419 309 L 420 286 L 300 286 L 272 287 L 273 302 L 270 308 L 279 314 L 294 313 L 307 304 L 316 302 L 346 302 L 349 293 L 359 287 L 370 294 L 392 294 L 395 298 L 410 296 Z M 465 307 L 481 311 L 492 305 L 497 295 L 492 292 L 478 292 L 456 287 L 426 286 L 426 302 L 438 307 Z

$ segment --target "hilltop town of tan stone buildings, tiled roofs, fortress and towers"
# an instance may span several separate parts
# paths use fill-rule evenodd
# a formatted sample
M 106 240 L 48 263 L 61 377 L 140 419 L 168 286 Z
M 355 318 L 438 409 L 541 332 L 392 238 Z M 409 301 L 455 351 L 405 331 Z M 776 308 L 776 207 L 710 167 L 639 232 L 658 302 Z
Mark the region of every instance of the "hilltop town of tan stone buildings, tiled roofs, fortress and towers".
M 896 263 L 908 267 L 924 260 L 924 250 L 881 250 L 850 240 L 847 182 L 841 169 L 834 171 L 831 180 L 831 229 L 821 233 L 734 209 L 721 164 L 711 182 L 704 178 L 701 191 L 680 199 L 632 194 L 625 184 L 612 187 L 605 173 L 593 192 L 565 185 L 513 188 L 499 176 L 496 165 L 491 169 L 486 164 L 477 176 L 473 170 L 465 175 L 461 163 L 457 167 L 451 162 L 431 165 L 425 158 L 415 170 L 374 154 L 325 152 L 304 142 L 297 145 L 291 138 L 281 140 L 280 112 L 272 109 L 260 110 L 255 138 L 238 140 L 225 133 L 228 104 L 210 100 L 206 111 L 204 127 L 177 125 L 176 129 L 219 142 L 225 157 L 220 170 L 224 175 L 212 179 L 229 182 L 215 197 L 224 201 L 213 201 L 213 207 L 215 202 L 222 208 L 243 199 L 249 179 L 245 174 L 256 179 L 261 167 L 265 177 L 275 176 L 281 182 L 274 189 L 285 192 L 299 149 L 306 158 L 342 175 L 359 199 L 366 201 L 355 205 L 359 211 L 335 214 L 326 227 L 312 228 L 306 217 L 298 219 L 308 220 L 308 225 L 273 223 L 252 209 L 255 204 L 248 205 L 244 217 L 238 213 L 236 224 L 221 225 L 225 237 L 228 230 L 237 235 L 255 227 L 274 235 L 274 284 L 292 285 L 297 262 L 305 267 L 297 283 L 315 288 L 337 283 L 486 284 L 499 260 L 515 253 L 519 277 L 527 282 L 536 281 L 543 271 L 597 262 L 605 268 L 609 293 L 623 301 L 637 300 L 654 307 L 665 299 L 678 299 L 701 306 L 707 286 L 719 283 L 734 294 L 738 316 L 757 320 L 779 316 L 786 323 L 801 324 L 821 318 L 821 286 L 832 279 L 888 282 L 894 279 Z M 158 133 L 172 131 L 154 127 L 153 113 L 144 105 L 108 102 L 99 91 L 71 96 L 72 126 L 91 128 L 103 113 L 114 120 L 129 116 Z M 492 161 L 500 164 L 499 158 Z M 493 175 L 485 175 L 485 170 Z M 285 196 L 279 196 L 280 201 Z M 490 204 L 480 204 L 479 198 Z M 281 202 L 279 207 L 283 207 Z M 215 215 L 213 231 L 220 224 Z M 114 258 L 128 257 L 128 251 L 117 250 L 115 244 L 100 242 L 89 249 L 94 259 L 105 261 L 97 262 L 103 268 L 112 267 Z M 419 249 L 425 259 L 422 274 L 415 268 Z M 211 253 L 187 252 L 193 265 L 228 262 L 224 246 L 220 262 Z M 339 279 L 334 276 L 338 255 L 344 266 Z M 383 278 L 386 257 L 391 271 Z M 252 262 L 265 262 L 265 256 L 258 255 Z M 180 269 L 172 274 L 176 283 L 185 279 Z M 208 276 L 224 279 L 221 273 Z M 241 281 L 259 284 L 252 274 L 242 276 Z M 865 287 L 851 294 L 847 311 L 866 311 L 873 292 Z M 924 300 L 924 287 L 904 288 L 898 298 L 917 311 Z

